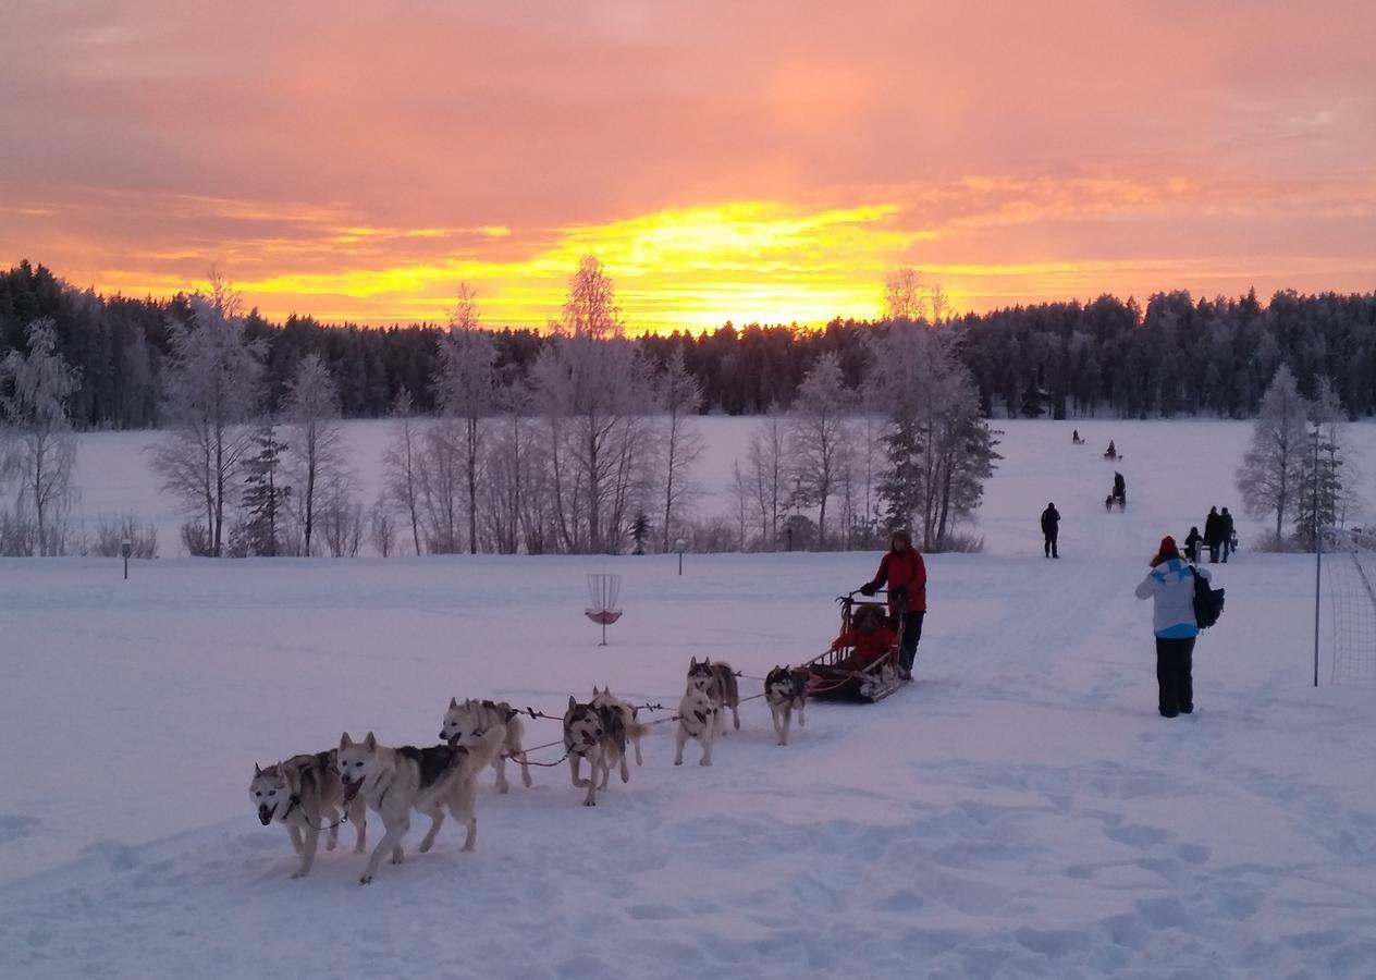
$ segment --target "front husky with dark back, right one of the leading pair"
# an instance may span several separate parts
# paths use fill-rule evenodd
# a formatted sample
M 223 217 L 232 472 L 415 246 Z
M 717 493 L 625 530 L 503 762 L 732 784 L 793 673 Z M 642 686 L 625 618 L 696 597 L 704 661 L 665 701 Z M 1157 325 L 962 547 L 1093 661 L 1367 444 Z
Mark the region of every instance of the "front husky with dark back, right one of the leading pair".
M 361 885 L 373 880 L 388 851 L 392 852 L 394 864 L 402 863 L 402 838 L 410 830 L 413 809 L 431 819 L 431 829 L 421 841 L 421 853 L 435 844 L 435 835 L 444 823 L 446 808 L 468 827 L 464 851 L 473 849 L 477 840 L 477 818 L 473 816 L 477 769 L 466 749 L 447 745 L 388 749 L 377 743 L 373 732 L 362 742 L 352 741 L 344 732 L 337 765 L 345 802 L 352 802 L 355 797 L 363 798 L 383 818 L 383 827 L 387 830 L 373 849 L 373 856 L 367 859 L 367 870 L 358 880 Z

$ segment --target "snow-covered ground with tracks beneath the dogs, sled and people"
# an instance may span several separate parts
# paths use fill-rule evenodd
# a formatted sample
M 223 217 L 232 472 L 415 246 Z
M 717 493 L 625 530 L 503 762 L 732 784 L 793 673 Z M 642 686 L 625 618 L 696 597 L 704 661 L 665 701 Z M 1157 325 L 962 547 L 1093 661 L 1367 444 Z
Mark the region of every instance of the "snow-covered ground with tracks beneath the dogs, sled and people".
M 749 436 L 709 424 L 705 482 Z M 998 424 L 985 552 L 929 559 L 916 684 L 812 705 L 788 747 L 751 701 L 711 768 L 695 746 L 674 768 L 660 725 L 593 809 L 567 768 L 505 797 L 484 775 L 476 853 L 446 826 L 366 889 L 347 846 L 289 880 L 255 761 L 344 728 L 431 743 L 450 695 L 560 713 L 611 683 L 669 706 L 691 655 L 760 676 L 820 651 L 877 555 L 689 555 L 681 578 L 665 556 L 162 559 L 129 582 L 111 560 L 0 562 L 0 976 L 1372 976 L 1376 712 L 1370 688 L 1310 687 L 1311 559 L 1218 566 L 1198 710 L 1154 710 L 1132 588 L 1163 534 L 1238 509 L 1248 427 L 1077 425 L 1090 445 Z M 1376 429 L 1353 436 L 1376 460 Z M 88 509 L 164 505 L 146 442 L 83 440 Z M 1244 545 L 1256 530 L 1240 520 Z M 625 575 L 604 648 L 590 571 Z

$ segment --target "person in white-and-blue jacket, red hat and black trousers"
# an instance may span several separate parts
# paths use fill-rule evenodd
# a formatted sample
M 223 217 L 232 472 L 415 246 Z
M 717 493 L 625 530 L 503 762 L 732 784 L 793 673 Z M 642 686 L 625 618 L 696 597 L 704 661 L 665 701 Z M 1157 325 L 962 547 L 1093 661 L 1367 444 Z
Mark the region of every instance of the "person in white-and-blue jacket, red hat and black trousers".
M 1175 538 L 1167 535 L 1152 559 L 1152 571 L 1137 586 L 1138 599 L 1153 600 L 1156 684 L 1159 707 L 1167 718 L 1194 710 L 1192 661 L 1194 637 L 1200 635 L 1194 619 L 1194 575 L 1210 578 L 1207 570 L 1187 564 L 1175 548 Z

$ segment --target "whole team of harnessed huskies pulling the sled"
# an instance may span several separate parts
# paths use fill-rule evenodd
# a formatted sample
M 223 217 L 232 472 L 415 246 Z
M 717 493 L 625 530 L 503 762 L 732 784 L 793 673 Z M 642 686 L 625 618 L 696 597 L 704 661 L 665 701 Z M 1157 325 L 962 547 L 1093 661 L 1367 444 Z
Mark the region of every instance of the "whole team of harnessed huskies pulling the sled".
M 765 679 L 764 696 L 779 745 L 787 745 L 794 712 L 802 725 L 806 672 L 775 668 Z M 699 764 L 711 765 L 711 747 L 725 727 L 728 710 L 733 725 L 740 728 L 739 706 L 740 691 L 731 666 L 692 658 L 688 685 L 678 702 L 674 765 L 682 765 L 689 739 L 696 739 L 702 747 Z M 619 768 L 623 783 L 630 782 L 627 743 L 636 752 L 636 765 L 641 765 L 640 741 L 648 731 L 649 725 L 638 720 L 636 709 L 615 698 L 610 687 L 594 687 L 586 702 L 570 695 L 564 713 L 564 750 L 574 786 L 588 790 L 585 807 L 597 805 L 597 790 L 607 789 L 614 767 Z M 497 791 L 506 793 L 510 789 L 506 760 L 512 758 L 520 765 L 522 782 L 531 785 L 523 735 L 519 712 L 510 705 L 450 698 L 439 732 L 443 745 L 391 749 L 380 745 L 373 732 L 361 742 L 344 732 L 337 749 L 293 756 L 266 768 L 255 764 L 249 798 L 264 827 L 274 822 L 286 827 L 292 848 L 301 858 L 293 878 L 311 873 L 322 833 L 327 834 L 326 851 L 338 845 L 338 829 L 345 816 L 356 834 L 354 853 L 363 853 L 367 849 L 367 811 L 372 809 L 381 818 L 384 833 L 359 878 L 359 884 L 366 885 L 388 853 L 394 864 L 402 863 L 402 838 L 410 830 L 411 811 L 431 819 L 420 853 L 435 844 L 446 811 L 465 826 L 462 849 L 472 851 L 477 841 L 473 812 L 477 775 L 491 767 L 497 772 Z M 579 775 L 585 760 L 588 779 Z

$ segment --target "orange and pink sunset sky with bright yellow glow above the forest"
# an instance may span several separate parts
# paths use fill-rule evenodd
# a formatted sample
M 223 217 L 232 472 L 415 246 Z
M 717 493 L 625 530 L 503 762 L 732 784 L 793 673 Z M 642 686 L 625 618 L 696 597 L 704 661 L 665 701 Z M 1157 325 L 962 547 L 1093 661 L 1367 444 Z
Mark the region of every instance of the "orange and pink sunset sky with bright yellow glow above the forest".
M 1376 288 L 1376 4 L 0 0 L 0 264 L 632 329 Z

